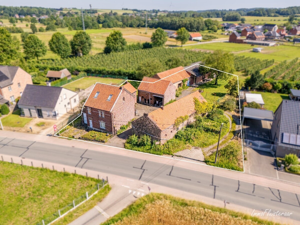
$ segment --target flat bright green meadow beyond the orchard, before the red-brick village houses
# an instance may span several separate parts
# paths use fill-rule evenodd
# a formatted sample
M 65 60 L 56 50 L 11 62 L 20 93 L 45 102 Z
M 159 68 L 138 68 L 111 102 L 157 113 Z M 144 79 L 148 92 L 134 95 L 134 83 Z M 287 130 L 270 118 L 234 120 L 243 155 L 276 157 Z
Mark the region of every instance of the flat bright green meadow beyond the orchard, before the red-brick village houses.
M 239 52 L 239 51 L 243 51 L 243 50 L 253 49 L 253 47 L 255 47 L 255 46 L 251 46 L 250 44 L 217 42 L 217 43 L 209 43 L 209 44 L 190 45 L 190 46 L 185 46 L 183 48 L 185 48 L 185 49 L 206 49 L 206 50 L 213 50 L 213 51 L 217 50 L 217 49 L 222 49 L 224 51 L 229 51 L 229 52 Z

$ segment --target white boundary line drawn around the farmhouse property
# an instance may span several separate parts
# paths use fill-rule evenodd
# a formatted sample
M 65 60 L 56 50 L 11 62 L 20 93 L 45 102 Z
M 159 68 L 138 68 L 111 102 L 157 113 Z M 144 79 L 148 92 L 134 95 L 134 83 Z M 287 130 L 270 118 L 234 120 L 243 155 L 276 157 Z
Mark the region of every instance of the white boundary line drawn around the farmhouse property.
M 189 66 L 189 67 L 187 67 L 187 68 L 185 68 L 185 69 L 183 69 L 183 70 L 186 70 L 186 69 L 188 69 L 188 68 L 190 68 L 190 67 L 193 67 L 193 66 L 195 66 L 195 65 L 203 66 L 203 65 L 200 65 L 200 64 L 193 64 L 192 66 Z M 210 69 L 212 69 L 212 70 L 217 70 L 217 69 L 214 69 L 214 68 L 211 68 L 211 67 L 207 67 L 207 66 L 203 66 L 203 67 L 210 68 Z M 179 72 L 181 72 L 181 71 L 183 71 L 183 70 L 180 70 L 180 71 L 178 71 L 178 72 L 176 72 L 176 73 L 179 73 Z M 222 70 L 217 70 L 217 71 L 220 71 L 220 72 L 223 72 L 223 73 L 227 73 L 227 72 L 224 72 L 224 71 L 222 71 Z M 176 74 L 176 73 L 173 73 L 173 74 L 171 74 L 171 75 L 169 75 L 169 76 L 172 76 L 172 75 L 174 75 L 174 74 Z M 234 75 L 234 74 L 232 74 L 232 73 L 227 73 L 227 74 L 230 74 L 230 75 L 232 75 L 232 76 L 236 76 L 236 77 L 237 77 L 237 80 L 238 80 L 238 76 L 237 76 L 237 75 Z M 166 76 L 166 77 L 169 77 L 169 76 Z M 162 79 L 165 79 L 166 77 L 164 77 L 164 78 L 162 78 Z M 157 81 L 155 81 L 155 82 L 158 82 L 158 81 L 160 81 L 160 80 L 162 80 L 162 79 L 159 79 L 159 80 L 157 80 Z M 130 79 L 127 79 L 126 81 L 124 81 L 124 82 L 123 82 L 122 84 L 120 84 L 119 86 L 111 85 L 111 84 L 105 84 L 105 85 L 110 85 L 110 86 L 120 87 L 120 86 L 122 86 L 125 82 L 127 82 L 128 80 L 129 80 L 129 81 L 137 81 L 137 82 L 155 83 L 155 82 L 147 82 L 147 81 L 139 81 L 139 80 L 130 80 Z M 98 83 L 98 84 L 104 84 L 104 83 L 96 82 L 95 85 L 94 85 L 94 87 L 93 87 L 93 89 L 95 88 L 95 86 L 96 86 L 97 83 Z M 239 86 L 238 86 L 238 87 L 239 87 Z M 93 89 L 92 89 L 92 91 L 93 91 Z M 91 91 L 91 92 L 92 92 L 92 91 Z M 90 97 L 90 95 L 91 95 L 91 93 L 88 95 L 88 98 Z M 85 103 L 86 103 L 86 101 L 88 100 L 88 98 L 85 100 Z M 82 110 L 81 110 L 80 116 L 82 115 L 82 111 L 83 111 L 83 107 L 84 107 L 85 103 L 84 103 L 83 106 L 82 106 Z M 239 111 L 240 111 L 240 122 L 241 122 L 240 91 L 238 91 L 238 108 L 239 108 Z M 78 116 L 78 117 L 79 117 L 79 116 Z M 76 117 L 74 120 L 76 120 L 78 117 Z M 74 120 L 72 120 L 69 124 L 71 124 Z M 64 128 L 67 128 L 67 126 L 68 126 L 69 124 L 67 124 Z M 61 130 L 63 130 L 64 128 L 62 128 Z M 61 137 L 61 136 L 59 136 L 59 132 L 60 132 L 61 130 L 59 130 L 59 131 L 58 131 L 57 133 L 55 133 L 53 136 Z M 230 129 L 229 129 L 229 132 L 230 132 Z M 58 134 L 58 135 L 57 135 L 57 134 Z M 70 140 L 83 141 L 83 142 L 86 142 L 86 143 L 92 143 L 92 144 L 96 144 L 96 145 L 109 146 L 109 145 L 104 145 L 104 144 L 100 144 L 100 143 L 89 142 L 89 141 L 85 141 L 85 140 L 73 139 L 73 138 L 69 138 L 69 137 L 62 137 L 62 138 L 66 138 L 66 139 L 70 139 Z M 242 140 L 242 156 L 243 156 L 243 170 L 244 170 L 244 171 L 243 171 L 243 172 L 237 171 L 237 170 L 231 170 L 231 171 L 240 172 L 240 173 L 245 173 L 245 165 L 244 165 L 244 146 L 243 146 L 243 136 L 242 136 L 242 125 L 241 125 L 241 140 Z M 116 147 L 116 146 L 110 146 L 110 147 L 117 148 L 117 149 L 125 149 L 125 148 L 120 148 L 120 147 Z M 125 150 L 127 150 L 127 151 L 132 151 L 132 152 L 138 152 L 138 151 L 134 151 L 134 150 L 131 150 L 131 149 L 125 149 Z M 151 153 L 147 153 L 147 152 L 140 152 L 140 153 L 143 153 L 143 154 L 149 154 L 149 155 L 155 155 L 155 154 L 151 154 Z M 162 156 L 162 155 L 155 155 L 155 156 L 159 156 L 159 157 L 163 157 L 163 158 L 168 158 L 168 159 L 174 159 L 174 158 L 167 157 L 167 156 Z M 211 165 L 207 165 L 207 164 L 201 164 L 201 163 L 197 163 L 197 162 L 186 161 L 186 160 L 182 160 L 182 159 L 174 159 L 174 160 L 179 160 L 179 161 L 184 161 L 184 162 L 189 162 L 189 163 L 195 163 L 195 164 L 199 164 L 199 165 L 204 165 L 204 166 L 216 168 L 215 166 L 211 166 Z M 230 169 L 226 169 L 226 168 L 222 168 L 222 167 L 217 167 L 217 168 L 221 168 L 221 169 L 224 169 L 224 170 L 230 170 Z

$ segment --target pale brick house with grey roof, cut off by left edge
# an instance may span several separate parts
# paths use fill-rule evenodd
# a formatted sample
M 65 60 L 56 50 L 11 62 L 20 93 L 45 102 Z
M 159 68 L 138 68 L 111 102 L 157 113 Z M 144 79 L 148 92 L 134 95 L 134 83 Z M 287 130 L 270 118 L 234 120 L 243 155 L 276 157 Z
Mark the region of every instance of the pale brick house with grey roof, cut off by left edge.
M 3 101 L 16 103 L 26 84 L 32 84 L 31 75 L 18 66 L 0 66 L 0 95 Z

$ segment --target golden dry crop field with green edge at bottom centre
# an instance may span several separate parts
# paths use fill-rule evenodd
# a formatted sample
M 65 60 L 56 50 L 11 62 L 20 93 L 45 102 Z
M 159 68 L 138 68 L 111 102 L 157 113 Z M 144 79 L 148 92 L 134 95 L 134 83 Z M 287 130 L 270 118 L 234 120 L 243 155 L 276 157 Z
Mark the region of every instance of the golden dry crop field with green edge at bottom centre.
M 273 222 L 248 214 L 185 200 L 166 194 L 151 193 L 137 199 L 103 225 L 129 224 L 265 224 Z

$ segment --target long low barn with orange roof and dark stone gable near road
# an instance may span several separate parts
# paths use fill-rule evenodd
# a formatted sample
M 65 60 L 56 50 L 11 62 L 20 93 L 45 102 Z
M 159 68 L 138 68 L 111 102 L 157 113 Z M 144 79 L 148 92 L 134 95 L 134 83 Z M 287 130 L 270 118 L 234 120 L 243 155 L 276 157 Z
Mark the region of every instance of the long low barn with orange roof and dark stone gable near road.
M 195 116 L 194 98 L 200 102 L 206 102 L 199 91 L 193 92 L 171 104 L 144 113 L 144 115 L 132 122 L 133 133 L 137 135 L 147 134 L 154 141 L 164 144 L 175 136 L 177 131 L 193 122 Z M 188 116 L 188 119 L 175 125 L 176 119 Z

